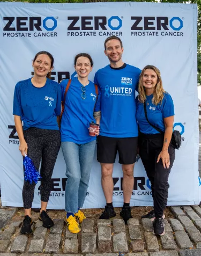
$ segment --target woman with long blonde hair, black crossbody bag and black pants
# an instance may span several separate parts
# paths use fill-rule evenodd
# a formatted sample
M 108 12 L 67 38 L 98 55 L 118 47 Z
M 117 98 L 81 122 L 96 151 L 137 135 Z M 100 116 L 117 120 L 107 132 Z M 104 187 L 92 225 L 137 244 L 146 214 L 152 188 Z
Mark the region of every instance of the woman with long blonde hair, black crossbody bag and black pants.
M 154 210 L 142 218 L 150 218 L 155 235 L 164 235 L 163 210 L 168 199 L 168 176 L 175 159 L 171 143 L 174 121 L 174 104 L 163 90 L 160 71 L 147 65 L 139 78 L 139 95 L 136 98 L 139 125 L 139 155 L 151 182 Z M 146 117 L 147 116 L 147 117 Z

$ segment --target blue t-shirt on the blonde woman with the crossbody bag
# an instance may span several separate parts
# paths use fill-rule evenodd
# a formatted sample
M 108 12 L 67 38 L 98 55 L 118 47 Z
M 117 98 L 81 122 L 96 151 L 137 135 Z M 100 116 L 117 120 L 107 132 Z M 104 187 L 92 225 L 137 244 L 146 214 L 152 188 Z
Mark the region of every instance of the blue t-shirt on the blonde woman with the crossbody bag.
M 146 96 L 146 111 L 147 118 L 152 125 L 158 127 L 162 131 L 165 131 L 165 124 L 163 119 L 174 115 L 174 104 L 171 96 L 165 92 L 162 104 L 154 105 L 152 103 L 153 94 Z M 147 103 L 149 104 L 147 106 Z M 154 129 L 146 120 L 144 104 L 139 103 L 138 97 L 136 97 L 137 114 L 136 118 L 139 124 L 139 130 L 144 134 L 157 134 L 159 131 Z

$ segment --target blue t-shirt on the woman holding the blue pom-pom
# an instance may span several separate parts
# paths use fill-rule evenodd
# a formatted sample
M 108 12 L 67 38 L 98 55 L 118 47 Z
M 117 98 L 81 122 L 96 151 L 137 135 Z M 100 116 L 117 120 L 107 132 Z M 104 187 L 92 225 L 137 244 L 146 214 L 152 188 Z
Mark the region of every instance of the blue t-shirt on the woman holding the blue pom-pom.
M 46 84 L 35 87 L 31 78 L 20 81 L 14 89 L 13 115 L 21 116 L 23 129 L 59 130 L 57 116 L 61 114 L 61 88 L 47 78 Z

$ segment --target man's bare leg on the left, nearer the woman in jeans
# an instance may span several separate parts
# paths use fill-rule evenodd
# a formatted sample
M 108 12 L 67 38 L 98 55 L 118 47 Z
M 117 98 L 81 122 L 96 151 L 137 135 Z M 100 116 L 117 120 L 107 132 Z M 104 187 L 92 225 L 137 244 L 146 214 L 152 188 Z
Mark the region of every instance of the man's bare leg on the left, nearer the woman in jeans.
M 113 188 L 114 188 L 114 182 L 113 182 L 113 164 L 103 164 L 101 163 L 101 171 L 102 171 L 102 177 L 101 177 L 101 184 L 102 189 L 105 194 L 106 202 L 111 203 L 113 201 Z

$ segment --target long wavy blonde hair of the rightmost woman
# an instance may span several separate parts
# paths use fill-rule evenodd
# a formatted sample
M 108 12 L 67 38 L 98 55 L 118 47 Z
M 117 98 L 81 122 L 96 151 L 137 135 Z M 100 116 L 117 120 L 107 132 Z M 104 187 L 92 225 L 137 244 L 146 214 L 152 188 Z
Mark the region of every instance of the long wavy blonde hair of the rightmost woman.
M 144 67 L 144 69 L 142 70 L 142 72 L 139 76 L 139 85 L 138 85 L 139 102 L 144 103 L 146 100 L 145 88 L 143 86 L 143 76 L 144 76 L 144 72 L 146 69 L 152 69 L 157 74 L 157 78 L 158 78 L 157 85 L 155 85 L 155 87 L 154 87 L 152 103 L 154 105 L 158 105 L 159 103 L 162 104 L 162 99 L 164 97 L 165 90 L 162 87 L 160 70 L 157 67 L 154 67 L 153 65 L 146 65 L 146 67 Z

